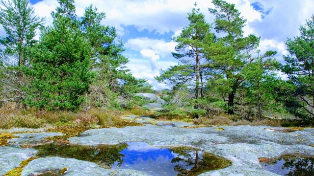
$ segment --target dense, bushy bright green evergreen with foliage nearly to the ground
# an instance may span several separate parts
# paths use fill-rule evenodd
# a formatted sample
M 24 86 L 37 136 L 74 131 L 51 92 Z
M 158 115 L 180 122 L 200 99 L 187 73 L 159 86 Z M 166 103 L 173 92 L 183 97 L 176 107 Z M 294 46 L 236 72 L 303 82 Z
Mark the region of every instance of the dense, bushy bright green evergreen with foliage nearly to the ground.
M 41 31 L 32 49 L 34 60 L 26 73 L 33 77 L 27 101 L 30 107 L 76 110 L 84 100 L 94 73 L 90 45 L 69 18 L 57 16 Z

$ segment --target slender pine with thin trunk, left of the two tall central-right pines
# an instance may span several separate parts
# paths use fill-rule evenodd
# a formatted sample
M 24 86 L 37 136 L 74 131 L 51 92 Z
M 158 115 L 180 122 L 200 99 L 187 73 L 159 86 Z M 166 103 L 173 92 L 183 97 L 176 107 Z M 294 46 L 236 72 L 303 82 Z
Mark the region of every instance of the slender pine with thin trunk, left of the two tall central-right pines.
M 195 3 L 195 6 L 197 4 Z M 194 99 L 203 94 L 203 85 L 206 83 L 208 68 L 204 48 L 214 41 L 214 35 L 210 33 L 210 25 L 205 21 L 205 15 L 200 13 L 199 8 L 192 8 L 188 13 L 189 25 L 184 27 L 181 34 L 174 37 L 178 43 L 172 53 L 180 61 L 179 66 L 171 66 L 168 70 L 156 77 L 159 82 L 168 80 L 176 85 L 187 84 L 193 87 Z M 195 105 L 195 109 L 198 106 Z

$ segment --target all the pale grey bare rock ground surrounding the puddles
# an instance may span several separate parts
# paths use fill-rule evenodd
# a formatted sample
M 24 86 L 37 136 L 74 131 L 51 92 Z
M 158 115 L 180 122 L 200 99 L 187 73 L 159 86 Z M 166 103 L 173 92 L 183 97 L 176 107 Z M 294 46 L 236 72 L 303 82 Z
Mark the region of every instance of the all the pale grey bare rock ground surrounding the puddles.
M 276 176 L 262 169 L 260 157 L 278 157 L 283 154 L 314 156 L 314 129 L 298 131 L 268 126 L 228 126 L 194 128 L 183 122 L 155 121 L 150 118 L 127 116 L 143 126 L 125 128 L 93 129 L 71 137 L 69 141 L 80 145 L 118 144 L 129 141 L 144 141 L 150 146 L 188 146 L 204 150 L 232 161 L 232 166 L 210 171 L 201 176 Z M 24 129 L 25 130 L 25 129 Z M 14 132 L 14 131 L 13 131 Z M 0 175 L 18 167 L 20 162 L 34 156 L 36 150 L 20 146 L 43 143 L 48 136 L 62 135 L 58 132 L 14 134 L 9 146 L 0 147 Z M 99 165 L 73 158 L 44 157 L 30 161 L 22 176 L 48 170 L 61 171 L 67 168 L 68 176 L 145 176 L 146 173 L 130 169 L 104 169 Z

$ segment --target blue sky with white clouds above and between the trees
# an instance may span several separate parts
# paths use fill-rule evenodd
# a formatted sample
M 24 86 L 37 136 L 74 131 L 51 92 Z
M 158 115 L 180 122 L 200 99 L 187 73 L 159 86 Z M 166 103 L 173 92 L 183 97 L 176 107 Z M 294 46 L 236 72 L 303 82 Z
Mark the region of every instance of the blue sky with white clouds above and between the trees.
M 260 50 L 276 50 L 276 59 L 283 63 L 287 55 L 285 41 L 299 34 L 299 26 L 314 13 L 314 0 L 227 0 L 234 3 L 247 19 L 244 35 L 261 36 Z M 114 26 L 119 39 L 124 42 L 127 66 L 136 78 L 145 78 L 154 89 L 168 88 L 158 83 L 155 76 L 161 70 L 178 64 L 172 57 L 176 43 L 171 40 L 188 24 L 187 13 L 197 2 L 209 23 L 214 17 L 208 8 L 211 0 L 75 0 L 78 17 L 89 4 L 105 12 L 105 25 Z M 51 11 L 57 0 L 30 0 L 40 17 L 46 17 L 46 25 L 52 23 Z M 213 30 L 214 32 L 214 30 Z M 4 31 L 0 26 L 0 35 Z

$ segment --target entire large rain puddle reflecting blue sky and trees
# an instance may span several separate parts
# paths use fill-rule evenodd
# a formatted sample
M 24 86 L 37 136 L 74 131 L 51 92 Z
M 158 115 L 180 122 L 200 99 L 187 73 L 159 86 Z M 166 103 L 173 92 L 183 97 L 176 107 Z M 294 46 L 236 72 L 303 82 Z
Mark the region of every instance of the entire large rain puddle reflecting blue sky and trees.
M 58 145 L 35 147 L 38 156 L 60 156 L 91 161 L 104 168 L 133 169 L 153 176 L 196 176 L 231 165 L 215 155 L 187 147 L 149 147 L 145 142 L 118 145 Z

